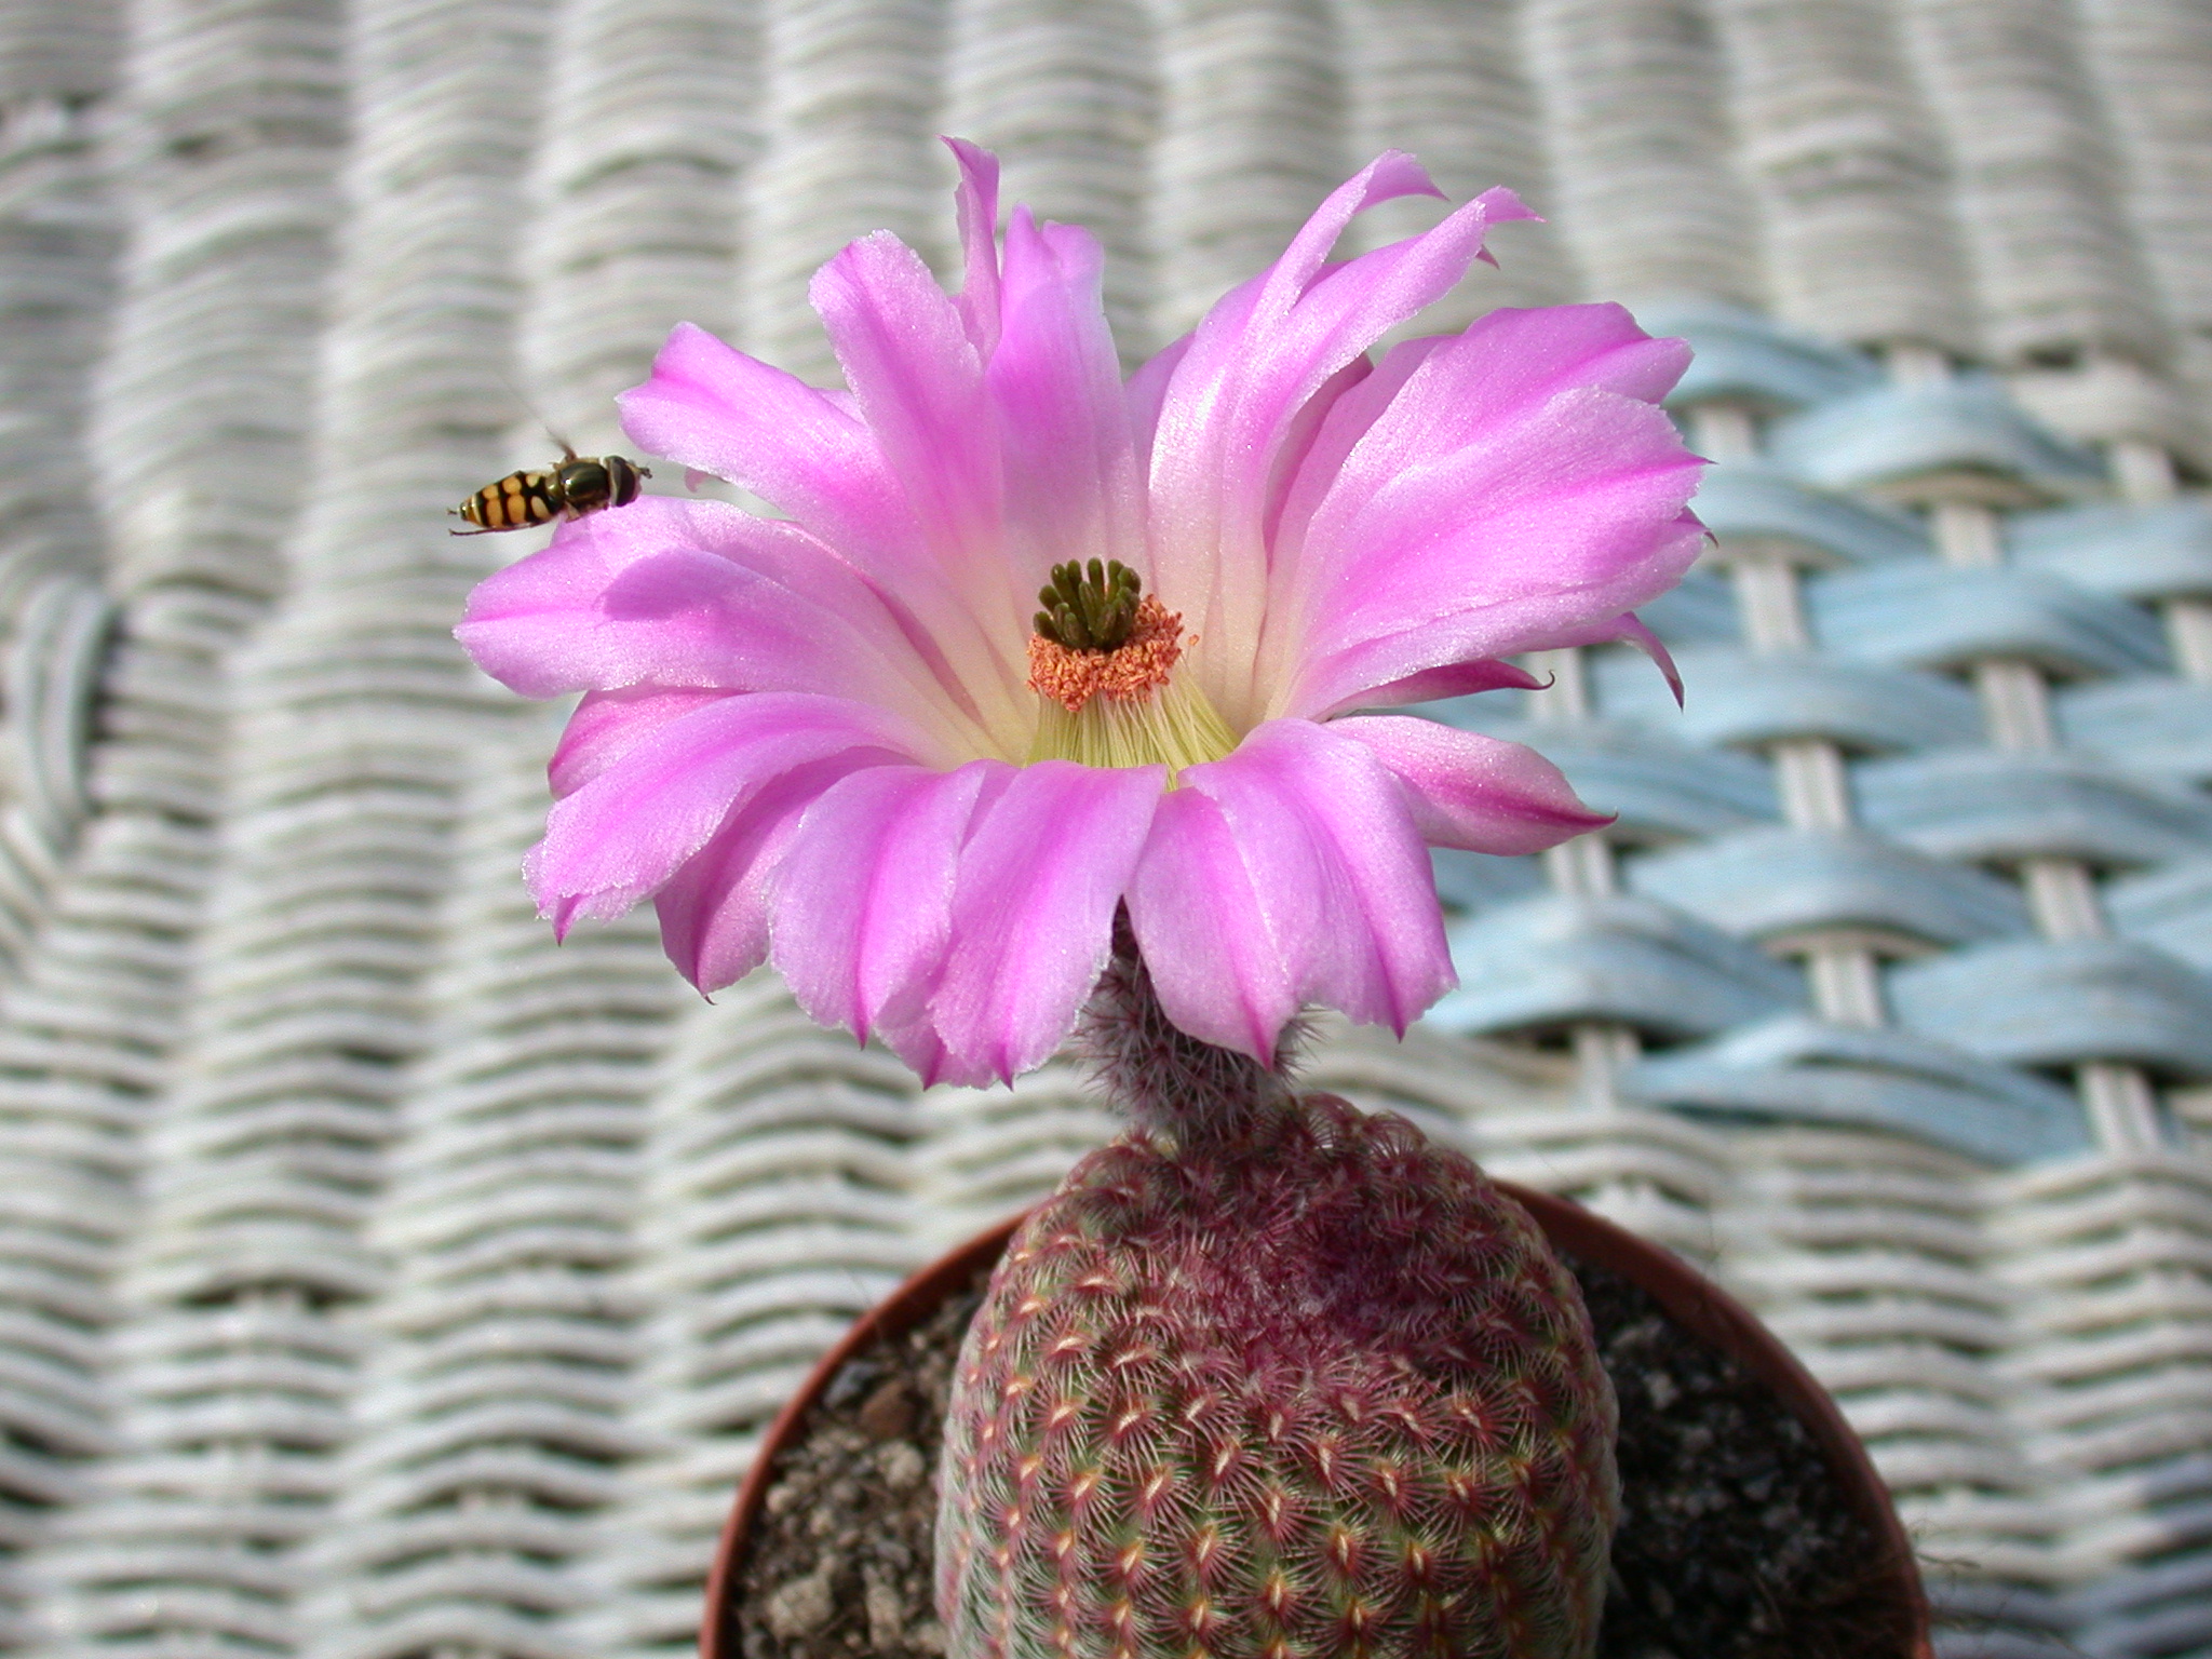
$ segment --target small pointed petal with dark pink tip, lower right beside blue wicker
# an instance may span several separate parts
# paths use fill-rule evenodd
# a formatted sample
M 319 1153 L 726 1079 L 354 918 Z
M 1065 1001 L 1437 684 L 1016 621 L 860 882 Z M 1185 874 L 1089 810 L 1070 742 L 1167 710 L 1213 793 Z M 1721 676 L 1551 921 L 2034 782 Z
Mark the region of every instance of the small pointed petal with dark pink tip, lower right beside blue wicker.
M 1329 732 L 1365 743 L 1391 770 L 1431 847 L 1517 858 L 1613 823 L 1524 743 L 1411 714 L 1329 721 Z

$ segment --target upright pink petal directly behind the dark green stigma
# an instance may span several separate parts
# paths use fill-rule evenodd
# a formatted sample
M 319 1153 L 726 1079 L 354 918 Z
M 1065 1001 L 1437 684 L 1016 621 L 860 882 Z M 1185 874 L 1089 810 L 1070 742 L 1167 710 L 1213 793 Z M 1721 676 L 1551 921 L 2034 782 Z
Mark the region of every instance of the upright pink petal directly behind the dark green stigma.
M 1006 557 L 1022 591 L 1062 560 L 1124 560 L 1150 582 L 1137 451 L 1099 294 L 1106 257 L 1073 226 L 1006 226 L 1004 334 L 989 387 L 1006 480 Z

